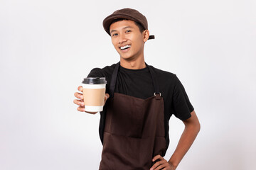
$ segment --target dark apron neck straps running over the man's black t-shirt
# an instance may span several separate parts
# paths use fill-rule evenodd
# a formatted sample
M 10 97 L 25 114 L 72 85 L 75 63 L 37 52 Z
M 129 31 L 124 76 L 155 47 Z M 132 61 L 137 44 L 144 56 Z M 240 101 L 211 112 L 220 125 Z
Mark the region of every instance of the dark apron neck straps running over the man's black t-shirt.
M 115 86 L 117 84 L 117 74 L 118 74 L 118 70 L 119 70 L 119 66 L 120 66 L 120 62 L 117 62 L 116 67 L 114 67 L 114 72 L 112 74 L 112 78 L 111 78 L 111 82 L 110 82 L 110 96 L 114 96 L 114 89 Z M 155 93 L 154 96 L 161 96 L 160 91 L 159 91 L 159 84 L 156 81 L 156 74 L 154 73 L 153 67 L 149 66 L 148 64 L 146 64 L 146 67 L 149 68 L 149 73 L 151 74 L 151 78 L 153 81 L 153 85 L 154 85 L 154 89 L 155 89 Z

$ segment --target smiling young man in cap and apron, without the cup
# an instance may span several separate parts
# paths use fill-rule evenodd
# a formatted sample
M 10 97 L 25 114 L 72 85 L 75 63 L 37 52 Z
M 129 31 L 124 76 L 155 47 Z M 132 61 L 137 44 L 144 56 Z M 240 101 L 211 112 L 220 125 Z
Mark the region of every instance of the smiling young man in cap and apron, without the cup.
M 200 130 L 185 89 L 175 74 L 145 63 L 144 44 L 154 35 L 149 35 L 142 13 L 117 10 L 105 18 L 103 26 L 120 62 L 92 69 L 88 75 L 106 77 L 108 82 L 100 113 L 100 169 L 176 169 Z M 78 111 L 85 111 L 82 94 L 76 92 L 75 97 Z M 183 121 L 185 129 L 174 154 L 165 159 L 172 114 Z

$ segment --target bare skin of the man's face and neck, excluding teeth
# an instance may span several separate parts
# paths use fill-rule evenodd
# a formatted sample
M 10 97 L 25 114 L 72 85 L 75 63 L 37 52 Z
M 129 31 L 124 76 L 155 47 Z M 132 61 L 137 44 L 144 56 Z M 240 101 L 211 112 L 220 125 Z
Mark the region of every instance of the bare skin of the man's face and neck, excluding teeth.
M 118 21 L 110 26 L 110 35 L 115 50 L 120 55 L 120 64 L 127 69 L 143 69 L 146 67 L 144 60 L 144 44 L 149 39 L 149 30 L 142 33 L 134 21 Z M 119 47 L 131 45 L 128 51 Z

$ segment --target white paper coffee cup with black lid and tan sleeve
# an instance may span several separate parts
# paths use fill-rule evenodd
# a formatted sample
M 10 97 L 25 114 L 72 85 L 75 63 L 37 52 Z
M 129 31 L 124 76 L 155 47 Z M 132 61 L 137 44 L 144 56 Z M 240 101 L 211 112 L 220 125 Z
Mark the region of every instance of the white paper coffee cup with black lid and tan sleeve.
M 106 84 L 105 77 L 87 77 L 82 81 L 85 111 L 103 111 Z

